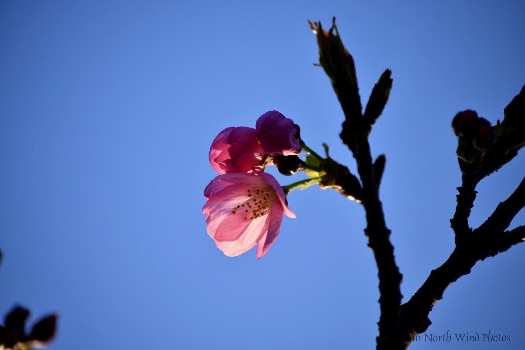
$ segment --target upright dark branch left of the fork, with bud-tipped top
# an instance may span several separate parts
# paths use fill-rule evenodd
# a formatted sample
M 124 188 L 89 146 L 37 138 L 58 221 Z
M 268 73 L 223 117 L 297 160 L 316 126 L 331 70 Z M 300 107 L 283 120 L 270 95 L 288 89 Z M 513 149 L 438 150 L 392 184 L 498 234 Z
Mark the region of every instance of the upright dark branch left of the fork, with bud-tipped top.
M 378 323 L 379 337 L 377 337 L 377 342 L 379 342 L 396 326 L 400 312 L 399 306 L 403 298 L 400 288 L 402 275 L 395 262 L 394 247 L 390 242 L 391 231 L 386 227 L 383 205 L 379 199 L 379 183 L 385 157 L 380 156 L 373 164 L 368 141 L 371 126 L 379 118 L 388 100 L 392 87 L 391 71 L 385 70 L 375 85 L 365 110 L 365 116 L 363 116 L 354 61 L 342 44 L 335 26 L 335 18 L 328 32 L 322 29 L 320 23 L 310 23 L 310 26 L 317 34 L 320 65 L 330 78 L 345 116 L 340 134 L 341 140 L 348 146 L 358 165 L 361 179 L 359 200 L 366 211 L 365 235 L 369 238 L 368 246 L 374 252 L 379 276 L 379 304 L 381 307 Z M 348 181 L 349 186 L 342 188 L 356 188 L 354 179 L 346 178 L 350 180 Z M 337 187 L 334 188 L 337 189 Z M 351 191 L 345 190 L 343 194 L 348 192 Z

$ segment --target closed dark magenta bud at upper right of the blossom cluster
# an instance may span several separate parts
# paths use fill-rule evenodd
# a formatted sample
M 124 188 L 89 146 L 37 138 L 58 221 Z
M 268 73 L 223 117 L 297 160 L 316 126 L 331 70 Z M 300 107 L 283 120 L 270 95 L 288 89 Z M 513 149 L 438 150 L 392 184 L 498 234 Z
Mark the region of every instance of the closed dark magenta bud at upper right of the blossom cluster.
M 255 130 L 264 152 L 282 155 L 301 153 L 299 126 L 281 113 L 270 111 L 262 114 L 255 123 Z

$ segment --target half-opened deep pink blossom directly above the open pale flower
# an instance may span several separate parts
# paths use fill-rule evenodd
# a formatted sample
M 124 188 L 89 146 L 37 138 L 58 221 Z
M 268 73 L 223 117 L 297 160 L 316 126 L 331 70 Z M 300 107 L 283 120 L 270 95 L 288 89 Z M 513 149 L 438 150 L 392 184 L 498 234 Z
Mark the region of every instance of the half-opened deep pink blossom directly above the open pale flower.
M 209 164 L 219 174 L 264 169 L 266 153 L 255 137 L 255 129 L 239 126 L 221 131 L 209 149 Z

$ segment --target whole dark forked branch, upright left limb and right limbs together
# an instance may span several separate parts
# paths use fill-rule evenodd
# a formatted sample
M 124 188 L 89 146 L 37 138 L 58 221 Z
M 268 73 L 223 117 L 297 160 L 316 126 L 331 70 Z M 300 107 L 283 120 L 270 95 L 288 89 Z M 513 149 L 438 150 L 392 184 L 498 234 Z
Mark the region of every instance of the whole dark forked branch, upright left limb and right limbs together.
M 495 141 L 493 144 L 487 143 L 487 149 L 472 147 L 472 144 L 465 143 L 465 135 L 456 133 L 460 144 L 458 162 L 463 173 L 461 187 L 458 187 L 456 212 L 450 220 L 455 232 L 456 248 L 442 266 L 430 272 L 412 298 L 401 304 L 402 275 L 395 262 L 394 247 L 390 241 L 391 231 L 386 227 L 379 198 L 385 157 L 381 155 L 372 163 L 368 141 L 372 125 L 388 100 L 392 87 L 391 71 L 384 71 L 372 91 L 363 115 L 354 61 L 342 44 L 335 18 L 328 32 L 322 30 L 320 23 L 310 25 L 317 34 L 320 65 L 329 76 L 344 112 L 341 140 L 352 152 L 358 166 L 361 185 L 348 172 L 348 168 L 341 166 L 346 171 L 340 172 L 341 176 L 335 182 L 338 186 L 333 188 L 349 198 L 358 199 L 366 212 L 365 234 L 369 238 L 368 246 L 374 253 L 379 277 L 381 316 L 376 349 L 406 349 L 419 333 L 427 330 L 431 324 L 429 312 L 443 298 L 443 293 L 451 283 L 470 273 L 478 261 L 493 257 L 525 240 L 525 226 L 506 231 L 512 218 L 525 206 L 525 178 L 516 191 L 497 206 L 484 224 L 475 230 L 468 224 L 470 210 L 476 199 L 477 184 L 512 160 L 525 144 L 525 86 L 505 109 L 505 119 L 501 124 L 498 121 L 497 128 L 495 126 Z M 459 157 L 460 151 L 463 152 L 462 157 Z M 468 152 L 475 153 L 466 157 L 469 156 Z

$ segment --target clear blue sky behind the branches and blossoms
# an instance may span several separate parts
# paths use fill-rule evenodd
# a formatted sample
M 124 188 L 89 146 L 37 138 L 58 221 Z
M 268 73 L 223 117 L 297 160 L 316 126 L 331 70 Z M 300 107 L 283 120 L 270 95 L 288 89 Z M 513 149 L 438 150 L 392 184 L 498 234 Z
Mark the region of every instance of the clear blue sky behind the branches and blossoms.
M 406 301 L 454 247 L 454 115 L 496 122 L 525 83 L 522 1 L 0 2 L 0 313 L 60 315 L 55 350 L 371 349 L 377 277 L 364 212 L 292 192 L 276 243 L 228 258 L 206 234 L 207 152 L 227 126 L 278 110 L 355 171 L 307 19 L 336 16 L 363 104 L 392 69 L 371 135 Z M 479 186 L 477 227 L 524 175 Z M 275 169 L 270 173 L 275 174 Z M 279 177 L 283 184 L 303 178 Z M 520 213 L 512 227 L 525 224 Z M 510 335 L 521 349 L 525 245 L 476 264 L 427 333 Z

